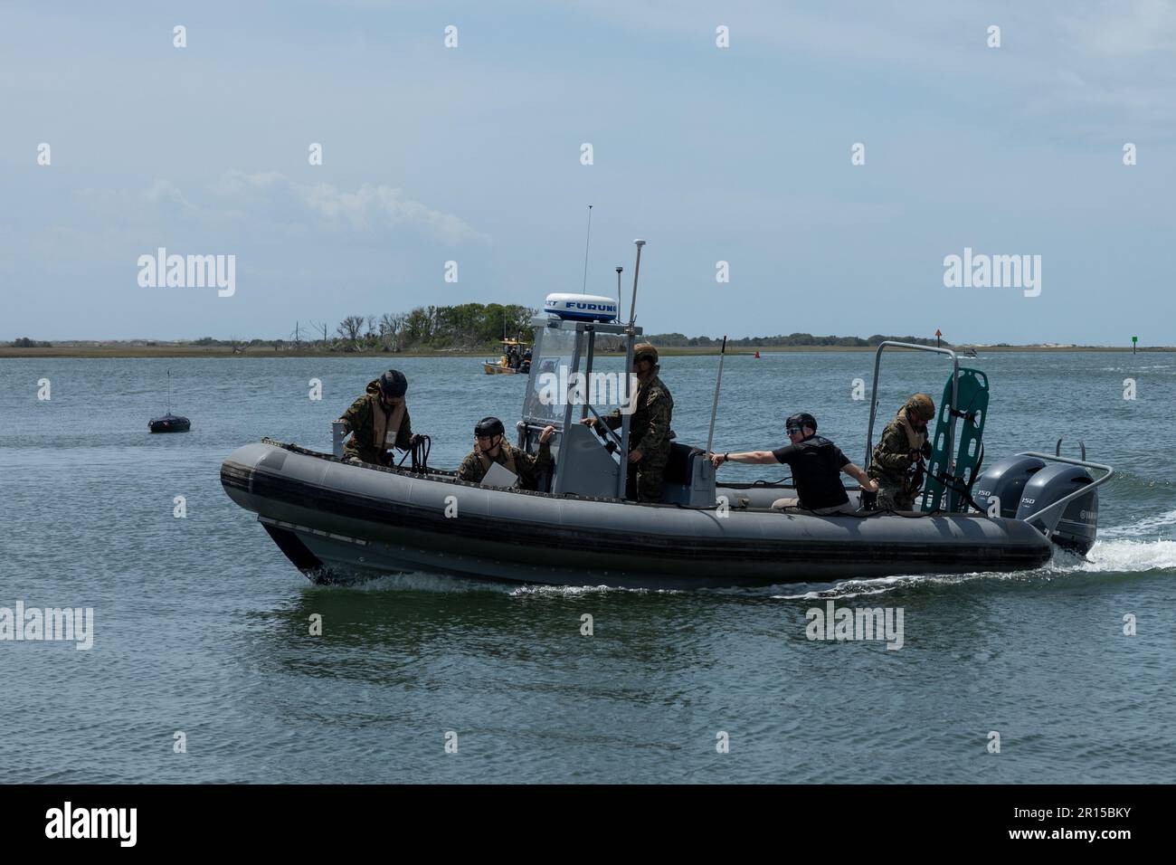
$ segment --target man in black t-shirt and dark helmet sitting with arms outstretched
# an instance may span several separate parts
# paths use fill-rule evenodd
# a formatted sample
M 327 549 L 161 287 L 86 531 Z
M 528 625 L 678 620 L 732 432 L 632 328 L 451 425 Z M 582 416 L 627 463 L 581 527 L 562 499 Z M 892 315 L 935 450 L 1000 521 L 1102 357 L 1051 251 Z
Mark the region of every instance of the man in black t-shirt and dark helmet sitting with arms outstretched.
M 791 444 L 777 447 L 775 451 L 715 453 L 710 455 L 710 461 L 715 468 L 723 463 L 747 465 L 783 463 L 790 466 L 797 495 L 771 503 L 771 507 L 777 511 L 786 507 L 802 507 L 822 517 L 854 513 L 857 508 L 850 504 L 849 495 L 846 494 L 841 472 L 854 478 L 863 490 L 877 492 L 877 484 L 850 463 L 840 447 L 823 435 L 816 434 L 816 418 L 808 412 L 788 418 L 784 421 L 784 432 L 788 433 Z

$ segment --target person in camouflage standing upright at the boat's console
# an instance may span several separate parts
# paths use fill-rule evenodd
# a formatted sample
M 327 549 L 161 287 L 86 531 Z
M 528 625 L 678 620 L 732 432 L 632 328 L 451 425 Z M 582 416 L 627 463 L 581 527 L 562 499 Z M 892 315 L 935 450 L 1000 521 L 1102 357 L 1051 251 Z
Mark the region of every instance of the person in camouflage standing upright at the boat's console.
M 633 347 L 633 372 L 637 375 L 637 393 L 629 421 L 629 478 L 636 474 L 636 487 L 629 492 L 629 498 L 635 493 L 637 501 L 661 501 L 673 437 L 669 425 L 674 419 L 674 398 L 657 377 L 661 372 L 657 350 L 649 342 Z M 621 410 L 601 420 L 609 430 L 616 430 L 621 426 Z M 584 418 L 580 422 L 595 426 L 596 419 Z

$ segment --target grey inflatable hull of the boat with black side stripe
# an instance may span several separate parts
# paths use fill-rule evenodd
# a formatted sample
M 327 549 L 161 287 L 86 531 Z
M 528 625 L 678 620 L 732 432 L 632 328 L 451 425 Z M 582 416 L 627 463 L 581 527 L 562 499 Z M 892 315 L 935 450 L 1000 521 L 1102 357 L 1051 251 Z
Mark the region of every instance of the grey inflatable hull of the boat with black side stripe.
M 717 487 L 716 498 L 733 503 L 727 510 L 553 498 L 278 443 L 234 451 L 221 481 L 300 570 L 322 580 L 429 571 L 686 588 L 1020 571 L 1053 553 L 1049 539 L 1017 519 L 771 511 L 774 499 L 794 494 L 777 485 Z

